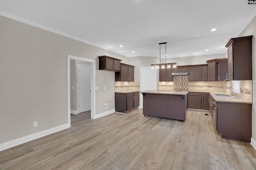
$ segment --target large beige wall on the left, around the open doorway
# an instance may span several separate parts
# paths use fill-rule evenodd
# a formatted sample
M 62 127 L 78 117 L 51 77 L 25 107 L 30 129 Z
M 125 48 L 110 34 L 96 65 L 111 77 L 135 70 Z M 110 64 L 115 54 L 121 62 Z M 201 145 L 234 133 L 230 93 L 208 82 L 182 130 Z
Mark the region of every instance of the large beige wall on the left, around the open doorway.
M 67 55 L 96 60 L 96 114 L 114 109 L 114 72 L 98 70 L 98 56 L 127 57 L 3 16 L 0 24 L 0 144 L 68 123 Z

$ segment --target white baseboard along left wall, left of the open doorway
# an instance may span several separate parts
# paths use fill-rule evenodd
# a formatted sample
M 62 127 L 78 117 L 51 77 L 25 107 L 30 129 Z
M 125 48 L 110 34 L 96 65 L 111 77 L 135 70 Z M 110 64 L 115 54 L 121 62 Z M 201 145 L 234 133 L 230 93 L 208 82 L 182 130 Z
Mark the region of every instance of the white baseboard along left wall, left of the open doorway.
M 45 131 L 41 131 L 41 132 L 34 133 L 34 134 L 31 134 L 31 135 L 28 135 L 28 136 L 25 136 L 25 137 L 14 139 L 14 140 L 8 141 L 6 143 L 2 143 L 2 144 L 0 144 L 0 151 L 15 147 L 17 145 L 21 145 L 21 144 L 29 142 L 29 141 L 33 141 L 35 139 L 50 135 L 52 133 L 56 133 L 58 131 L 62 131 L 62 130 L 67 129 L 69 127 L 70 126 L 68 126 L 68 124 L 64 124 L 64 125 L 60 125 L 60 126 L 51 128 L 51 129 L 47 129 Z

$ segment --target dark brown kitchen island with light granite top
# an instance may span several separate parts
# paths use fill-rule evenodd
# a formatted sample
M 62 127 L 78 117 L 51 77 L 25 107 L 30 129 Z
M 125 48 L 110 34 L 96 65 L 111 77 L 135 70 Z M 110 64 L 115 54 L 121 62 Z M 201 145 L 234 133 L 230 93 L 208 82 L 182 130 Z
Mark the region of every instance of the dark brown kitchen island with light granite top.
M 143 115 L 185 121 L 187 113 L 187 91 L 140 92 L 143 95 Z

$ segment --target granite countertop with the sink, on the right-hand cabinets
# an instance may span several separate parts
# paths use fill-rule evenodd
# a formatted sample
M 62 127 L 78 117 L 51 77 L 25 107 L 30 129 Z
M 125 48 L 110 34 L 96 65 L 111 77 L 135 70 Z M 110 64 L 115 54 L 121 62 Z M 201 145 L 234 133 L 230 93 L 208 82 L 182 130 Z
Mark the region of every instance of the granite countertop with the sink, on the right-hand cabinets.
M 216 100 L 216 102 L 228 102 L 228 103 L 246 103 L 246 104 L 252 104 L 252 102 L 232 96 L 232 97 L 226 97 L 226 96 L 215 96 L 215 94 L 227 94 L 225 92 L 209 92 L 210 95 Z M 230 94 L 228 94 L 230 95 Z

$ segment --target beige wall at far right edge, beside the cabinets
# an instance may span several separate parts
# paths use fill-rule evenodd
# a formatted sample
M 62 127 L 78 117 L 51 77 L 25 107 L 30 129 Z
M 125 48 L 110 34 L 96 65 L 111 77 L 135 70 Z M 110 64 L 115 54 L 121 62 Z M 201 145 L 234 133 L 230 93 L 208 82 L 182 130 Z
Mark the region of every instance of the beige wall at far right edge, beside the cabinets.
M 256 17 L 247 25 L 238 37 L 252 37 L 252 138 L 256 141 Z

